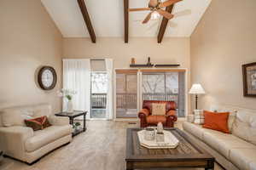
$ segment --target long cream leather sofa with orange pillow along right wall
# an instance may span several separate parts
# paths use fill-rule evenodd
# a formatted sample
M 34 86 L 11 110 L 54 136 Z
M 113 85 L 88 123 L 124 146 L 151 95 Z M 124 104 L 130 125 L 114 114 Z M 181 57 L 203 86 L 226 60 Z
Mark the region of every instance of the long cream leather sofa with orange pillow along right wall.
M 225 169 L 256 170 L 256 111 L 227 107 L 218 111 L 232 112 L 229 118 L 230 134 L 191 122 L 183 122 L 183 130 Z

